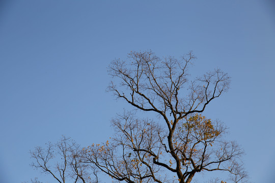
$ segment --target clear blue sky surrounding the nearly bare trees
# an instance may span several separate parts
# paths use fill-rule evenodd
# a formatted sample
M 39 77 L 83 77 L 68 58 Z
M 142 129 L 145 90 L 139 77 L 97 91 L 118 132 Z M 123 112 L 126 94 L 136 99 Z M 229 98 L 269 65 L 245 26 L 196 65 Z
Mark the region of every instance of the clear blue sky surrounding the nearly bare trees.
M 231 89 L 204 114 L 230 127 L 253 182 L 273 182 L 272 0 L 0 1 L 0 182 L 39 176 L 29 150 L 61 135 L 83 146 L 105 141 L 109 120 L 128 106 L 105 92 L 106 67 L 148 49 L 193 50 L 195 75 L 229 73 Z

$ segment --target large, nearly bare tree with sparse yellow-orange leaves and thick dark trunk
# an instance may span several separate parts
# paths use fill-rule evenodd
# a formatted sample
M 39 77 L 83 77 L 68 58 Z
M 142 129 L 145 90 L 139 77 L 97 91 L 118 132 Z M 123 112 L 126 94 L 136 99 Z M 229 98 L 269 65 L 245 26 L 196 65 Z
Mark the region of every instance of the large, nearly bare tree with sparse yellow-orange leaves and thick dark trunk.
M 228 90 L 230 77 L 217 69 L 189 81 L 186 71 L 194 59 L 191 52 L 160 59 L 151 51 L 115 59 L 108 67 L 113 77 L 108 91 L 160 118 L 118 116 L 112 120 L 114 138 L 86 148 L 85 162 L 117 181 L 187 183 L 207 171 L 228 172 L 232 182 L 246 181 L 243 150 L 223 139 L 226 127 L 218 120 L 200 114 Z

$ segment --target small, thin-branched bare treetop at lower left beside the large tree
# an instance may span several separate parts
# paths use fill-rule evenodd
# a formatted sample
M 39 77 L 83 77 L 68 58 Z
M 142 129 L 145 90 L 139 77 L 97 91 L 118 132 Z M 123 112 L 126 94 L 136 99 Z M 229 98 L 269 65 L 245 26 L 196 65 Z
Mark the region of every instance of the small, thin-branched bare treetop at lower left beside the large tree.
M 42 173 L 50 174 L 56 182 L 98 182 L 97 170 L 91 164 L 82 163 L 82 148 L 75 141 L 62 136 L 56 144 L 35 147 L 30 151 L 32 166 Z M 91 179 L 90 175 L 95 179 Z M 32 182 L 40 182 L 37 179 Z

